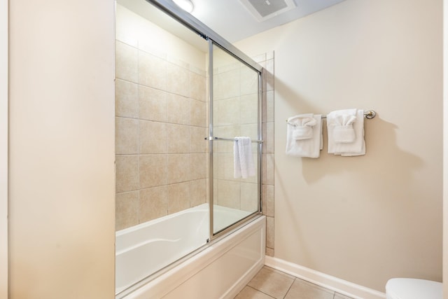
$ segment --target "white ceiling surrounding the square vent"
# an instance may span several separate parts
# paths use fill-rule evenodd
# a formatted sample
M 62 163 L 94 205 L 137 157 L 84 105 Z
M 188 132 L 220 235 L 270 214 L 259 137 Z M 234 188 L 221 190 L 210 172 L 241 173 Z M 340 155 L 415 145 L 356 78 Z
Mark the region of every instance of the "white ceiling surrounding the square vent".
M 192 0 L 192 15 L 231 43 L 321 11 L 344 0 L 294 0 L 293 10 L 258 22 L 239 0 Z

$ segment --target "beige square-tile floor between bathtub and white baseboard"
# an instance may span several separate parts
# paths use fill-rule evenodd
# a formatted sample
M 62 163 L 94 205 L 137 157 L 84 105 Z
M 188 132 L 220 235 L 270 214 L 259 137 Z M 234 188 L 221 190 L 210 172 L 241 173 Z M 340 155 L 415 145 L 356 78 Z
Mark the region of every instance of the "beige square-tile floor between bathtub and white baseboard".
M 235 299 L 351 299 L 327 288 L 264 266 Z

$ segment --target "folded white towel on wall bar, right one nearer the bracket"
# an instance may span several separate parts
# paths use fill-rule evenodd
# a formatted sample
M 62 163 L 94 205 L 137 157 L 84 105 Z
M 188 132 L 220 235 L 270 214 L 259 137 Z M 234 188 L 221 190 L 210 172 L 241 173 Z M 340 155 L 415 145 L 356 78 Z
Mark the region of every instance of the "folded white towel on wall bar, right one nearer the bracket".
M 327 115 L 328 153 L 365 155 L 364 111 L 346 109 Z

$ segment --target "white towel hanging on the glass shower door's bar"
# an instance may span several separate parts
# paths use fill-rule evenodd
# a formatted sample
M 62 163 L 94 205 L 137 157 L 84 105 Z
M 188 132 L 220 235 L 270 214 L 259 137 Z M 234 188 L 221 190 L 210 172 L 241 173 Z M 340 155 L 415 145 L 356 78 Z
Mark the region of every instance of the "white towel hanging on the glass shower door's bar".
M 255 176 L 250 137 L 235 137 L 233 143 L 233 176 L 235 179 L 247 179 Z

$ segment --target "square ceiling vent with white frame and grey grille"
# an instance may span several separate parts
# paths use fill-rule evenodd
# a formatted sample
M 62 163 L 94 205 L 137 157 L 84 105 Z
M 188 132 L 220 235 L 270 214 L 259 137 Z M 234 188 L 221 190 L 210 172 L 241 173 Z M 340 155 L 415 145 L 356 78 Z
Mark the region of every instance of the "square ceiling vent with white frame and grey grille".
M 295 8 L 294 0 L 239 0 L 258 22 Z

